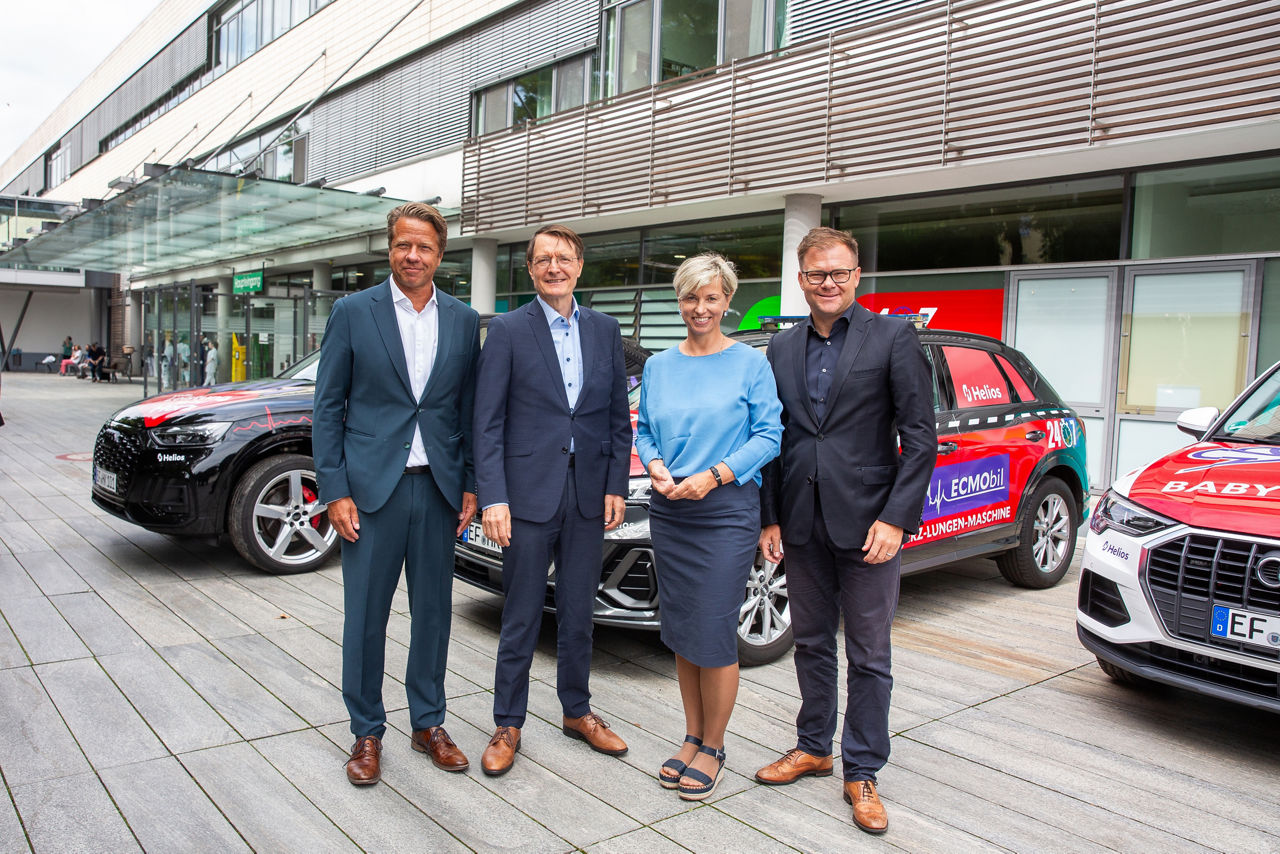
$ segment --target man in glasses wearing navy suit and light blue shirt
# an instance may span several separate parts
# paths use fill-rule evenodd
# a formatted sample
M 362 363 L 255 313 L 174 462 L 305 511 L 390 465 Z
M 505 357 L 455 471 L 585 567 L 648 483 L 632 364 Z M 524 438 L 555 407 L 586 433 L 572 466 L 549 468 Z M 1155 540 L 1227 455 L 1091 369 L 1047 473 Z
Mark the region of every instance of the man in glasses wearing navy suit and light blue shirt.
M 591 712 L 591 611 L 604 531 L 622 524 L 631 458 L 622 335 L 579 306 L 582 241 L 545 225 L 529 241 L 538 298 L 489 321 L 476 387 L 476 484 L 485 535 L 503 547 L 495 731 L 480 759 L 511 769 L 529 704 L 547 568 L 556 563 L 556 691 L 564 735 L 609 755 L 626 743 Z

